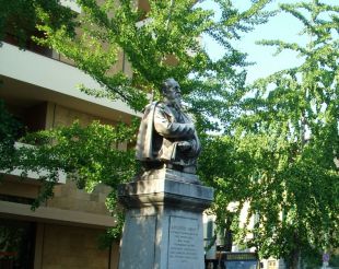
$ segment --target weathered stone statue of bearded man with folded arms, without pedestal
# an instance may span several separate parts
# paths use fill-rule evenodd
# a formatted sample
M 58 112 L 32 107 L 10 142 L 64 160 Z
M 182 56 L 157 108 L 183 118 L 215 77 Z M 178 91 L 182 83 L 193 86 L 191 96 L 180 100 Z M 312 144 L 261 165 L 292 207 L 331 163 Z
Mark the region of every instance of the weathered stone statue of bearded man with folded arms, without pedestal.
M 196 174 L 200 142 L 195 126 L 182 110 L 182 92 L 174 79 L 162 85 L 163 101 L 144 108 L 137 141 L 137 160 L 145 171 L 166 167 Z

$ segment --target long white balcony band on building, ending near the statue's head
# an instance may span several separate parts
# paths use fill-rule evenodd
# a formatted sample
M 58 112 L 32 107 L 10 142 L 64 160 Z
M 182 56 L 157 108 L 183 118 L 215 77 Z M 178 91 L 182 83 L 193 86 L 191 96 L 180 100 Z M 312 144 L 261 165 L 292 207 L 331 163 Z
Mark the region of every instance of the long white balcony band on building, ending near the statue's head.
M 3 43 L 0 48 L 0 97 L 30 102 L 52 102 L 80 112 L 128 122 L 140 116 L 121 101 L 96 98 L 79 91 L 78 85 L 100 89 L 89 74 L 65 62 Z

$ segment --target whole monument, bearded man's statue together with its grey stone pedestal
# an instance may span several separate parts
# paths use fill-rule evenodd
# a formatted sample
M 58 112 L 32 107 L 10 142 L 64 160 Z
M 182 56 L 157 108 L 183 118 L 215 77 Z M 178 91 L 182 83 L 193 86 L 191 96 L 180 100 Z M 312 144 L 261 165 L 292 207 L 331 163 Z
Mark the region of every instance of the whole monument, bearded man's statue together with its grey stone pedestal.
M 144 108 L 137 141 L 142 171 L 118 189 L 126 208 L 119 269 L 203 269 L 202 211 L 212 188 L 196 175 L 200 142 L 174 79 Z

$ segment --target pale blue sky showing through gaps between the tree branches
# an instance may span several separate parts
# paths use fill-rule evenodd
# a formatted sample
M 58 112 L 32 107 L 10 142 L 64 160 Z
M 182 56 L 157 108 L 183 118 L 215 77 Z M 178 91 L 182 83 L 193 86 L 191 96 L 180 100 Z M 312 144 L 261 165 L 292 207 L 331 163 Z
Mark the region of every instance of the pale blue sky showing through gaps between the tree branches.
M 323 0 L 322 2 L 338 4 L 338 0 Z M 239 10 L 248 7 L 249 0 L 234 0 L 235 5 Z M 269 10 L 278 8 L 278 3 L 293 3 L 295 0 L 273 0 L 269 5 Z M 207 7 L 211 8 L 213 4 L 209 3 Z M 217 8 L 214 5 L 214 8 Z M 218 8 L 217 8 L 218 13 Z M 299 66 L 302 59 L 296 52 L 287 50 L 278 56 L 273 56 L 274 47 L 256 45 L 255 43 L 260 39 L 281 39 L 284 42 L 296 42 L 305 44 L 307 37 L 300 36 L 302 30 L 301 22 L 288 13 L 278 13 L 271 17 L 267 24 L 258 25 L 250 33 L 243 34 L 239 42 L 234 43 L 234 47 L 243 52 L 247 52 L 247 60 L 256 62 L 256 65 L 248 67 L 247 83 L 256 79 L 267 77 L 276 71 Z M 203 37 L 203 46 L 207 48 L 212 58 L 217 59 L 221 55 L 221 48 L 211 39 Z

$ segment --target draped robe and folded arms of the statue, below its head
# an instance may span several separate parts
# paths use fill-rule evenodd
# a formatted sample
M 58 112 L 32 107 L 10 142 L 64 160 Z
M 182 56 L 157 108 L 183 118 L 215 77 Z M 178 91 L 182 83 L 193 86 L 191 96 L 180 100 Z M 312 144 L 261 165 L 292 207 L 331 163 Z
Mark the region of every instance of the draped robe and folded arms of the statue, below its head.
M 180 144 L 188 142 L 188 149 Z M 144 109 L 137 141 L 137 160 L 182 166 L 196 164 L 200 142 L 190 118 L 180 109 L 153 102 Z

